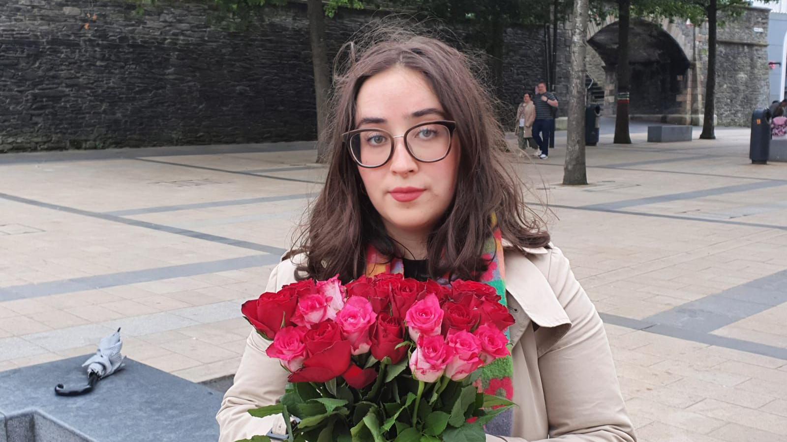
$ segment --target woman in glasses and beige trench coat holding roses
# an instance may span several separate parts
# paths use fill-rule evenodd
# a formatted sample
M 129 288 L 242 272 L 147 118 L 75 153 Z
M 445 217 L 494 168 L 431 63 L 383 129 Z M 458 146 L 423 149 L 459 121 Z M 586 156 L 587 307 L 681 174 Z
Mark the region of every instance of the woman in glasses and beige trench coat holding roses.
M 505 138 L 469 61 L 442 42 L 377 42 L 337 76 L 327 179 L 297 251 L 268 291 L 299 278 L 348 282 L 380 264 L 419 279 L 497 274 L 507 290 L 513 369 L 494 387 L 518 404 L 486 440 L 632 442 L 604 326 L 504 168 Z M 482 250 L 497 245 L 494 254 Z M 504 252 L 503 252 L 504 248 Z M 275 403 L 287 373 L 249 333 L 219 413 L 220 440 L 283 431 Z

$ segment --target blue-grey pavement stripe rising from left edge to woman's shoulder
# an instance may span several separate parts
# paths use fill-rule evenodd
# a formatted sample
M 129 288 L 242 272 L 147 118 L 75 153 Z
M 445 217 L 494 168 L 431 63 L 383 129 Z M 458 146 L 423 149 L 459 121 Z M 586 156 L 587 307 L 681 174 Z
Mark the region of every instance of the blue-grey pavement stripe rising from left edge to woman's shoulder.
M 97 274 L 82 278 L 70 278 L 61 281 L 41 282 L 39 284 L 13 285 L 0 288 L 0 302 L 35 297 L 46 297 L 61 293 L 74 293 L 83 290 L 105 289 L 118 285 L 137 284 L 139 282 L 159 281 L 169 278 L 183 278 L 197 274 L 218 273 L 220 271 L 239 270 L 249 267 L 263 267 L 279 263 L 277 255 L 243 256 L 227 260 L 209 261 L 205 263 L 180 264 L 176 266 L 158 267 L 138 271 L 124 271 L 112 274 Z

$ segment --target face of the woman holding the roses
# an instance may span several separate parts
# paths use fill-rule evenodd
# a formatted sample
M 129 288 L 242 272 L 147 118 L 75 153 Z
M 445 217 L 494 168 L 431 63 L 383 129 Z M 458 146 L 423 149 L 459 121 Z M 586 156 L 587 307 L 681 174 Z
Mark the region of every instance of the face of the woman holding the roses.
M 423 74 L 402 67 L 367 79 L 358 91 L 356 109 L 357 129 L 383 129 L 393 136 L 418 123 L 448 120 Z M 458 138 L 453 137 L 448 156 L 436 163 L 416 160 L 405 149 L 404 138 L 393 139 L 390 160 L 379 168 L 359 166 L 360 178 L 389 234 L 428 234 L 453 201 Z

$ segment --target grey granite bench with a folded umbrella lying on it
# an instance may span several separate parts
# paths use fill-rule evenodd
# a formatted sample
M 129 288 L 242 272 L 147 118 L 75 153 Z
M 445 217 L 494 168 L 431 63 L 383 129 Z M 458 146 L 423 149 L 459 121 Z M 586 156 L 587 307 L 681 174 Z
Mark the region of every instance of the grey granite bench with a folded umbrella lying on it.
M 0 372 L 0 442 L 216 442 L 221 393 L 126 359 L 126 367 L 84 396 L 90 355 Z

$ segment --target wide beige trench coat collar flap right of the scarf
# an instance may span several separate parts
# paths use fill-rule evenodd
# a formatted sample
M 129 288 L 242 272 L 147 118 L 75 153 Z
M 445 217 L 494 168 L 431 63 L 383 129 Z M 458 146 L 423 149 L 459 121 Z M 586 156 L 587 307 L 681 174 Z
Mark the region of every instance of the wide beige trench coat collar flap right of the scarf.
M 527 253 L 543 255 L 548 249 L 527 249 Z M 505 252 L 505 288 L 510 296 L 509 306 L 515 324 L 511 327 L 511 342 L 516 344 L 530 327 L 538 324 L 538 353 L 552 347 L 571 328 L 571 319 L 560 305 L 552 285 L 530 259 L 521 252 Z M 513 298 L 513 300 L 511 299 Z

